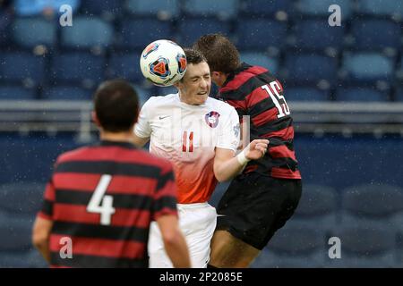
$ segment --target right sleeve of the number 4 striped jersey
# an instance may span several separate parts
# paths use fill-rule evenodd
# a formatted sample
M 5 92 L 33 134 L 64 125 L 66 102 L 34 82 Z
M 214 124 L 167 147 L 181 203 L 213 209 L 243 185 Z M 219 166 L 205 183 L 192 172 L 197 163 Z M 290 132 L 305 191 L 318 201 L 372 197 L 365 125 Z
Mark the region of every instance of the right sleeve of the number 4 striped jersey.
M 174 171 L 172 165 L 167 163 L 159 174 L 159 180 L 154 193 L 153 220 L 162 215 L 174 214 L 176 211 L 177 194 Z

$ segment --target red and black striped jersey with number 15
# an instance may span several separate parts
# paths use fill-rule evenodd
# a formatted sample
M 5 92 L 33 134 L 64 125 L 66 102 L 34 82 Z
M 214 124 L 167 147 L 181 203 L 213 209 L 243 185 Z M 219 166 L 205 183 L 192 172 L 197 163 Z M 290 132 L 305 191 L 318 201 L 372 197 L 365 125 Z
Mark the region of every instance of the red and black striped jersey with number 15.
M 242 63 L 219 88 L 219 97 L 250 116 L 250 136 L 269 139 L 269 150 L 262 159 L 251 161 L 244 172 L 259 172 L 274 178 L 301 179 L 294 150 L 293 119 L 283 88 L 267 69 Z

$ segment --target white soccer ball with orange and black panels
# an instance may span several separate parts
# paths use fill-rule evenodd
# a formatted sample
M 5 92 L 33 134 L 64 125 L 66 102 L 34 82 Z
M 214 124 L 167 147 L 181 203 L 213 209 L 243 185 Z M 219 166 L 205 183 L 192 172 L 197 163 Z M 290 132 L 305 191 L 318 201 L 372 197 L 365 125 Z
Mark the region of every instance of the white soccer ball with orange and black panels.
M 186 64 L 182 47 L 167 39 L 152 42 L 140 57 L 142 75 L 159 87 L 169 87 L 181 80 Z

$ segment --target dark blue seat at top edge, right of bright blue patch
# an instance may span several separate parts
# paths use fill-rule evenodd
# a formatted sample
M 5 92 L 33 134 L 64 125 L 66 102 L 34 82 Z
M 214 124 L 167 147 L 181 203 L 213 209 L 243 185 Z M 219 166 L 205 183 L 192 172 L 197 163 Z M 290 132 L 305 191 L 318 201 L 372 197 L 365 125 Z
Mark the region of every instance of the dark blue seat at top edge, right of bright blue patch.
M 113 15 L 114 18 L 123 13 L 121 0 L 91 1 L 81 0 L 81 12 L 90 15 Z

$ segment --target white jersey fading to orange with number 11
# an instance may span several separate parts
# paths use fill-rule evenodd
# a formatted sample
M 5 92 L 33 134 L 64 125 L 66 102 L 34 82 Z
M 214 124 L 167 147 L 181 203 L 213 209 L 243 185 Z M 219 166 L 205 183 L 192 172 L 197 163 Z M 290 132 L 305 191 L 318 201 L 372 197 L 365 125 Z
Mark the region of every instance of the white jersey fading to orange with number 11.
M 215 147 L 236 152 L 239 118 L 231 105 L 208 97 L 203 105 L 187 105 L 178 94 L 150 97 L 142 106 L 134 132 L 150 138 L 150 152 L 174 164 L 178 203 L 210 199 L 217 180 Z

